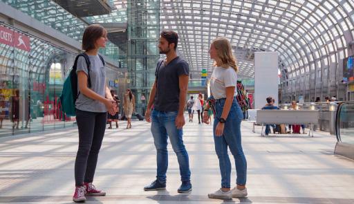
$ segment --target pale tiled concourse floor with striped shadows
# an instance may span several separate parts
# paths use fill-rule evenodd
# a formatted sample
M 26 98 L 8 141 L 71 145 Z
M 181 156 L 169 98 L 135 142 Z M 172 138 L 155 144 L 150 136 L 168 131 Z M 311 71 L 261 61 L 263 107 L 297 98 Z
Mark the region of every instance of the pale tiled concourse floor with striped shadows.
M 167 190 L 144 192 L 156 176 L 156 150 L 147 122 L 107 129 L 95 175 L 105 197 L 86 203 L 354 203 L 354 161 L 333 155 L 335 136 L 260 136 L 242 123 L 248 198 L 207 198 L 220 187 L 212 126 L 187 122 L 193 191 L 178 194 L 180 176 L 169 146 Z M 77 129 L 0 138 L 0 203 L 72 203 Z M 231 156 L 231 155 L 230 155 Z M 234 165 L 233 165 L 234 167 Z M 236 179 L 233 168 L 232 181 Z

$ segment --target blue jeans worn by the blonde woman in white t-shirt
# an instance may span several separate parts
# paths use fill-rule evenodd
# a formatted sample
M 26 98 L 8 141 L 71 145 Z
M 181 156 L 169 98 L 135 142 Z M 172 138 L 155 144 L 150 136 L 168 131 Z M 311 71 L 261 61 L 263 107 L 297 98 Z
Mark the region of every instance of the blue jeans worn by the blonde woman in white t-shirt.
M 215 136 L 218 118 L 221 118 L 225 99 L 216 100 L 215 109 L 216 117 L 214 119 L 214 142 L 215 151 L 218 155 L 218 163 L 221 171 L 221 187 L 230 188 L 231 163 L 227 154 L 227 146 L 229 147 L 236 166 L 236 184 L 245 185 L 247 176 L 247 161 L 241 145 L 241 121 L 243 113 L 239 104 L 234 98 L 232 106 L 227 115 L 223 136 Z

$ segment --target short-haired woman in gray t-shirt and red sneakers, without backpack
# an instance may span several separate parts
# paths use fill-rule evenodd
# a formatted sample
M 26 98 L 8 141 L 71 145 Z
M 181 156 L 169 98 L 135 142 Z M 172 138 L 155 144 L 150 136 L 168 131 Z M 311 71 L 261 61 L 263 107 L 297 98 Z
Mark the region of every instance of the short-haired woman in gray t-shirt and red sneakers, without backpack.
M 76 121 L 79 129 L 79 149 L 75 160 L 75 194 L 73 201 L 86 201 L 88 196 L 105 196 L 106 192 L 96 189 L 93 176 L 97 165 L 107 111 L 115 114 L 115 101 L 106 85 L 106 68 L 98 50 L 106 46 L 107 31 L 98 24 L 88 26 L 82 37 L 84 55 L 91 62 L 89 67 L 84 56 L 77 59 L 77 87 L 80 91 L 76 100 Z M 90 75 L 90 78 L 88 78 Z M 88 82 L 88 79 L 91 79 Z M 88 83 L 91 86 L 88 87 Z

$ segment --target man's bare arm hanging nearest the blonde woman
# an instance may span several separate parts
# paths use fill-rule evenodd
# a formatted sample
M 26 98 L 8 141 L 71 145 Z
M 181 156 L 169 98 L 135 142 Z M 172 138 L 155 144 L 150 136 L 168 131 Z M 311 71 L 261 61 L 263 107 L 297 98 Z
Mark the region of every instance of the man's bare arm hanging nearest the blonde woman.
M 176 118 L 176 127 L 181 129 L 185 125 L 185 116 L 183 115 L 185 109 L 185 99 L 187 98 L 189 75 L 180 75 L 178 77 L 180 87 L 180 106 Z

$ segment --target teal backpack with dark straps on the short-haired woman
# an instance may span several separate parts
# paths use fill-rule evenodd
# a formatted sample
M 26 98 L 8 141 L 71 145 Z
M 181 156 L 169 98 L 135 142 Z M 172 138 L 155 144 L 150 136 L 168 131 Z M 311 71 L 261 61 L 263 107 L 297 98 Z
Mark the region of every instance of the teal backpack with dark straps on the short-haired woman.
M 87 71 L 88 71 L 88 88 L 91 88 L 91 77 L 90 77 L 90 66 L 91 62 L 90 59 L 88 58 L 88 55 L 86 53 L 81 53 L 76 56 L 75 62 L 73 65 L 73 68 L 71 68 L 71 71 L 66 77 L 64 84 L 63 84 L 63 91 L 62 95 L 59 97 L 58 104 L 61 107 L 61 110 L 66 114 L 66 116 L 75 116 L 76 115 L 76 109 L 75 109 L 75 102 L 77 98 L 80 95 L 77 93 L 77 73 L 76 73 L 76 68 L 77 68 L 77 59 L 82 56 L 85 58 L 86 65 L 87 65 Z M 104 65 L 104 59 L 101 55 L 98 55 Z

